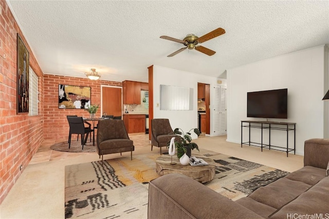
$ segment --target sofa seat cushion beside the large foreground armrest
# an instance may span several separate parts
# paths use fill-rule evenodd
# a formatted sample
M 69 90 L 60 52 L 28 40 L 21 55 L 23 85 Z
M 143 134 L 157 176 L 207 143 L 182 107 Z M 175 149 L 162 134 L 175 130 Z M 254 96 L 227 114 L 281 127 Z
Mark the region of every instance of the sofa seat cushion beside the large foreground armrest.
M 265 218 L 277 210 L 276 208 L 257 202 L 250 197 L 243 197 L 235 202 Z

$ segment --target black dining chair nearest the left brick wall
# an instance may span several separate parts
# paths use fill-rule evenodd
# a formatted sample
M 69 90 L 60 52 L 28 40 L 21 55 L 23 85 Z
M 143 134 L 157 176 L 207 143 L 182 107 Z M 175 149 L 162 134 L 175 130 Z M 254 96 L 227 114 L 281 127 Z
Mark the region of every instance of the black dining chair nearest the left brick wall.
M 82 117 L 78 116 L 67 116 L 67 121 L 70 126 L 69 130 L 69 137 L 68 137 L 68 148 L 71 146 L 71 135 L 72 134 L 81 134 L 81 145 L 82 145 L 82 150 L 83 146 L 86 144 L 88 135 L 90 134 L 90 142 L 92 142 L 91 135 L 92 132 L 94 132 L 94 129 L 91 128 L 91 124 L 88 125 L 88 127 L 85 127 L 84 124 L 86 123 L 83 121 Z M 85 137 L 85 134 L 86 137 Z M 93 139 L 94 141 L 94 139 Z

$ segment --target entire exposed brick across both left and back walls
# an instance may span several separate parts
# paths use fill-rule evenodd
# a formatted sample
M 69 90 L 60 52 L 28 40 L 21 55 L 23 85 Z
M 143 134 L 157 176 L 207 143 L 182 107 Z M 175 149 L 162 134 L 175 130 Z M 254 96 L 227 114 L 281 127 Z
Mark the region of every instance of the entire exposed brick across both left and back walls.
M 38 116 L 16 114 L 16 34 L 29 50 L 30 67 L 38 75 Z M 82 72 L 83 74 L 83 72 Z M 84 110 L 58 109 L 58 85 L 92 87 L 92 104 L 100 103 L 101 85 L 120 82 L 44 75 L 6 1 L 0 1 L 0 204 L 45 139 L 66 138 L 66 115 L 88 116 Z M 100 116 L 100 111 L 97 114 Z M 20 170 L 20 166 L 23 169 Z

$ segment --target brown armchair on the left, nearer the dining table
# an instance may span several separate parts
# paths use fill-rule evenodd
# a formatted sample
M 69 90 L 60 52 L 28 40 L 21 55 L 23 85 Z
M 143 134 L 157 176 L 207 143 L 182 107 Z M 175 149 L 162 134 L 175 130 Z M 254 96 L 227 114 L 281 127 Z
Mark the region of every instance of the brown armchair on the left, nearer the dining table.
M 130 151 L 133 160 L 135 147 L 130 140 L 123 120 L 101 120 L 98 123 L 97 131 L 97 153 L 99 158 L 104 154 L 120 153 Z

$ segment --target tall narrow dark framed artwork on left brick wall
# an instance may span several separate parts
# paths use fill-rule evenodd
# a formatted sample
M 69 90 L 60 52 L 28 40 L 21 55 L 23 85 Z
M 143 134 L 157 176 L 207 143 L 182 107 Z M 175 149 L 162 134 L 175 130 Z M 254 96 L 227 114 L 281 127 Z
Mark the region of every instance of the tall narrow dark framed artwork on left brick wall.
M 29 113 L 29 51 L 17 33 L 17 114 Z

